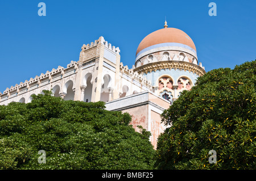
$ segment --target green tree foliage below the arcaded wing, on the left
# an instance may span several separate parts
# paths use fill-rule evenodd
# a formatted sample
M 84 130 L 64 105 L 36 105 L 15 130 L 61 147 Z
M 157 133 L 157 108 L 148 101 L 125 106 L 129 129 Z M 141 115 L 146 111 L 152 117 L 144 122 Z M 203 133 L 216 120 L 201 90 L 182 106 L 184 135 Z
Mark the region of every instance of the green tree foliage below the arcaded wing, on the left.
M 152 169 L 148 132 L 135 132 L 128 113 L 104 102 L 55 98 L 0 106 L 0 169 Z M 39 150 L 46 163 L 39 163 Z

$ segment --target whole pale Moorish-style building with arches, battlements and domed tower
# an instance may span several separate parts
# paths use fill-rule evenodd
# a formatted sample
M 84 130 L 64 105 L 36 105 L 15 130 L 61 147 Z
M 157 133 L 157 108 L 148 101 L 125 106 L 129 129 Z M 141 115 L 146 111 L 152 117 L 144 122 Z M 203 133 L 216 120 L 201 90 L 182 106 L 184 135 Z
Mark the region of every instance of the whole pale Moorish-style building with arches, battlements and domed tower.
M 43 94 L 43 90 L 52 90 L 64 100 L 103 101 L 107 110 L 129 112 L 134 128 L 138 131 L 137 125 L 142 125 L 150 131 L 156 147 L 158 135 L 166 128 L 160 123 L 160 114 L 181 91 L 195 85 L 205 74 L 204 67 L 198 64 L 191 38 L 168 28 L 167 23 L 141 41 L 133 68 L 120 62 L 119 52 L 101 36 L 82 45 L 79 61 L 0 92 L 0 105 L 30 103 L 32 95 Z

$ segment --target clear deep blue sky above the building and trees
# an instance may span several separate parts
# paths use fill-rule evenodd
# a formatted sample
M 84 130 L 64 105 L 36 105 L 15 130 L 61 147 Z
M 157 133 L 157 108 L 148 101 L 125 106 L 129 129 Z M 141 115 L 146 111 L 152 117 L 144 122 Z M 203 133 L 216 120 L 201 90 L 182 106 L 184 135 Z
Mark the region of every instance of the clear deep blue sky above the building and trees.
M 38 3 L 46 3 L 46 16 Z M 217 16 L 209 16 L 210 2 Z M 256 59 L 256 1 L 0 1 L 0 91 L 71 60 L 100 36 L 121 49 L 129 68 L 141 40 L 164 26 L 194 41 L 205 70 Z

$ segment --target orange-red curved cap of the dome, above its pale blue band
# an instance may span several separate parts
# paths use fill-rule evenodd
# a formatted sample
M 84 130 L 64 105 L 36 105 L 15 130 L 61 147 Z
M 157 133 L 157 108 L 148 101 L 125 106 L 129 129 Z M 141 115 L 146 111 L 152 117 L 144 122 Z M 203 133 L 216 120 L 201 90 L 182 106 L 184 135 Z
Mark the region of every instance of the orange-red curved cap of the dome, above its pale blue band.
M 191 37 L 187 35 L 184 31 L 177 28 L 163 28 L 154 31 L 144 37 L 144 39 L 139 44 L 136 55 L 141 52 L 141 50 L 151 47 L 152 45 L 162 44 L 162 43 L 177 43 L 187 45 L 196 52 L 196 46 L 193 43 Z

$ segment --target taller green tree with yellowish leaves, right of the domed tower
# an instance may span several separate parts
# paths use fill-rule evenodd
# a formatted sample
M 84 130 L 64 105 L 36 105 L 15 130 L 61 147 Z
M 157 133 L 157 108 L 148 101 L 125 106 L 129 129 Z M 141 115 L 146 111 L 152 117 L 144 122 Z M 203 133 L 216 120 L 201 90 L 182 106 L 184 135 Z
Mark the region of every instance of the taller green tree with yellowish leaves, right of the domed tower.
M 158 169 L 256 169 L 255 85 L 256 60 L 199 77 L 162 114 Z

